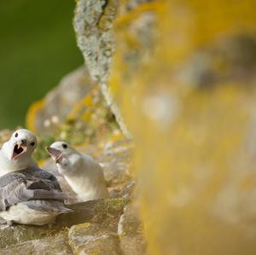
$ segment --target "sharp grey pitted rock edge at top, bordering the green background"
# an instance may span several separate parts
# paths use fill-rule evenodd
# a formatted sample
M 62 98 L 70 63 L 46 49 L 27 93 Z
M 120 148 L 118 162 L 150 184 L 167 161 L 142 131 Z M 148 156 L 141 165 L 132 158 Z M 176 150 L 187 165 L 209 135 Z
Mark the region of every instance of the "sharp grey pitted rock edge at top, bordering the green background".
M 106 82 L 113 55 L 113 20 L 117 0 L 78 1 L 73 20 L 79 49 L 92 78 Z

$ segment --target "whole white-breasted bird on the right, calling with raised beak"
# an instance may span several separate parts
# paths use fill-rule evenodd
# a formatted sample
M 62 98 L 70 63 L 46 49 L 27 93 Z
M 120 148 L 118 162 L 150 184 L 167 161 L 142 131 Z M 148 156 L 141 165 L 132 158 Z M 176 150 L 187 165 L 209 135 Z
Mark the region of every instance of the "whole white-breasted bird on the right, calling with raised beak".
M 46 150 L 79 200 L 108 198 L 102 166 L 95 159 L 87 154 L 80 154 L 67 142 L 54 142 Z

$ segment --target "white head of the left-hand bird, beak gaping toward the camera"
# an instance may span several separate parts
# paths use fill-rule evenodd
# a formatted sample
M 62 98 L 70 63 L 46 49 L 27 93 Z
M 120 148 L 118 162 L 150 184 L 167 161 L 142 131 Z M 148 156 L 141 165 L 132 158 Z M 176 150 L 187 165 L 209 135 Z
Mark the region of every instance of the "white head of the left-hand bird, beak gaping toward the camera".
M 3 143 L 1 151 L 9 165 L 17 170 L 25 169 L 31 163 L 32 153 L 37 147 L 37 137 L 30 130 L 16 130 L 9 141 Z

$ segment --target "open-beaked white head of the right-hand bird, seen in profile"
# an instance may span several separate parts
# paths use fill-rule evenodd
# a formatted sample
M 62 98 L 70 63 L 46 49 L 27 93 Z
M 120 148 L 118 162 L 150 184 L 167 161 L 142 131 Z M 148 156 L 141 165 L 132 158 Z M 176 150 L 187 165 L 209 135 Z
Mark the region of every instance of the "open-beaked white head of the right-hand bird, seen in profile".
M 55 160 L 55 164 L 61 174 L 67 175 L 77 170 L 81 155 L 67 142 L 54 142 L 46 150 Z

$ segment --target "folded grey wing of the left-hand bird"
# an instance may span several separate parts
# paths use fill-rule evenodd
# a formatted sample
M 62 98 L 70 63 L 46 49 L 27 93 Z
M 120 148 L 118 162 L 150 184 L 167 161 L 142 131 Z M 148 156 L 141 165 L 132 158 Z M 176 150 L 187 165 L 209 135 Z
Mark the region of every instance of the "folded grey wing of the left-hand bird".
M 15 178 L 14 178 L 15 175 Z M 9 182 L 8 182 L 9 179 Z M 2 182 L 3 181 L 3 182 Z M 27 200 L 65 200 L 67 195 L 52 187 L 45 187 L 44 182 L 35 180 L 26 181 L 26 178 L 17 176 L 16 173 L 0 178 L 0 211 L 5 211 L 9 206 Z M 40 185 L 41 184 L 41 185 Z

